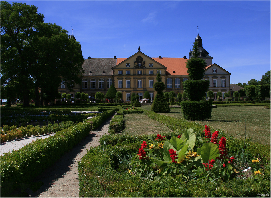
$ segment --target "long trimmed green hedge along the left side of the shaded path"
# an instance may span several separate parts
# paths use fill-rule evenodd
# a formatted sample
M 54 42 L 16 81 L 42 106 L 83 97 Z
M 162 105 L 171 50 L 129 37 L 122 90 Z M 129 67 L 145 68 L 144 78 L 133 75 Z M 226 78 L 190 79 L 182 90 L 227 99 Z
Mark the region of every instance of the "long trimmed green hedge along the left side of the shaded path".
M 64 153 L 72 149 L 81 139 L 97 128 L 116 109 L 101 113 L 99 116 L 80 122 L 59 131 L 54 136 L 38 139 L 17 151 L 1 156 L 1 197 L 9 195 L 14 189 L 25 186 L 38 176 L 42 170 L 50 167 Z

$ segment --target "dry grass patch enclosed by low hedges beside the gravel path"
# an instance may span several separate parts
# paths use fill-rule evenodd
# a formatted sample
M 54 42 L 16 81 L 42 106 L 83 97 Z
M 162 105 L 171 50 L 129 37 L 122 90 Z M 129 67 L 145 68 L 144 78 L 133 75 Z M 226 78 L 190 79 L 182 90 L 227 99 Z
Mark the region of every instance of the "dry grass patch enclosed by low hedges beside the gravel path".
M 171 132 L 168 127 L 162 125 L 161 123 L 154 121 L 153 119 L 149 119 L 144 114 L 126 114 L 124 115 L 124 124 L 125 129 L 121 135 L 149 135 L 153 133 L 161 133 L 162 132 Z

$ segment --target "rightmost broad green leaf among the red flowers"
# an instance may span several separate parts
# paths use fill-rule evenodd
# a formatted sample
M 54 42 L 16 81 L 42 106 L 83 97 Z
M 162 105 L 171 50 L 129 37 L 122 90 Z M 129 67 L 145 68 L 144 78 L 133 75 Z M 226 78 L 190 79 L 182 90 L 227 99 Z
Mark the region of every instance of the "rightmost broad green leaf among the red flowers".
M 218 146 L 213 143 L 204 143 L 201 147 L 201 158 L 203 163 L 206 163 L 211 159 L 216 159 L 216 157 L 219 157 Z

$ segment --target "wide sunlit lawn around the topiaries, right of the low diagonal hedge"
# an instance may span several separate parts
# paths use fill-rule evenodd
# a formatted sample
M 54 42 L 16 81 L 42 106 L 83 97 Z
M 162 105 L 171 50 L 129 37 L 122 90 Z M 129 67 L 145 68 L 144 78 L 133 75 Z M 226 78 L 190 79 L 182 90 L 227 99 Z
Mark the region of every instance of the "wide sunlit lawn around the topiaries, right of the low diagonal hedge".
M 150 110 L 151 106 L 142 109 Z M 171 108 L 170 113 L 159 113 L 181 119 L 183 115 L 180 108 Z M 212 110 L 212 117 L 207 121 L 197 121 L 213 129 L 221 128 L 236 138 L 252 138 L 252 141 L 270 145 L 270 109 L 264 106 L 254 107 L 217 107 Z

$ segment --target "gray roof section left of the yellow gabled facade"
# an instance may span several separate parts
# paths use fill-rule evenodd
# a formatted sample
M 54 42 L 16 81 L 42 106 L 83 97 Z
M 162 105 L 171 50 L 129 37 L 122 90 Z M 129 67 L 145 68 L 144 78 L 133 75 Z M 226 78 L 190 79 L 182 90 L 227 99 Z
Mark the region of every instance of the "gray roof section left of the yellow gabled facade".
M 112 67 L 116 66 L 117 59 L 114 58 L 91 58 L 86 59 L 82 67 L 85 70 L 84 76 L 111 76 Z M 92 73 L 90 73 L 92 72 Z M 105 72 L 105 73 L 104 73 Z

